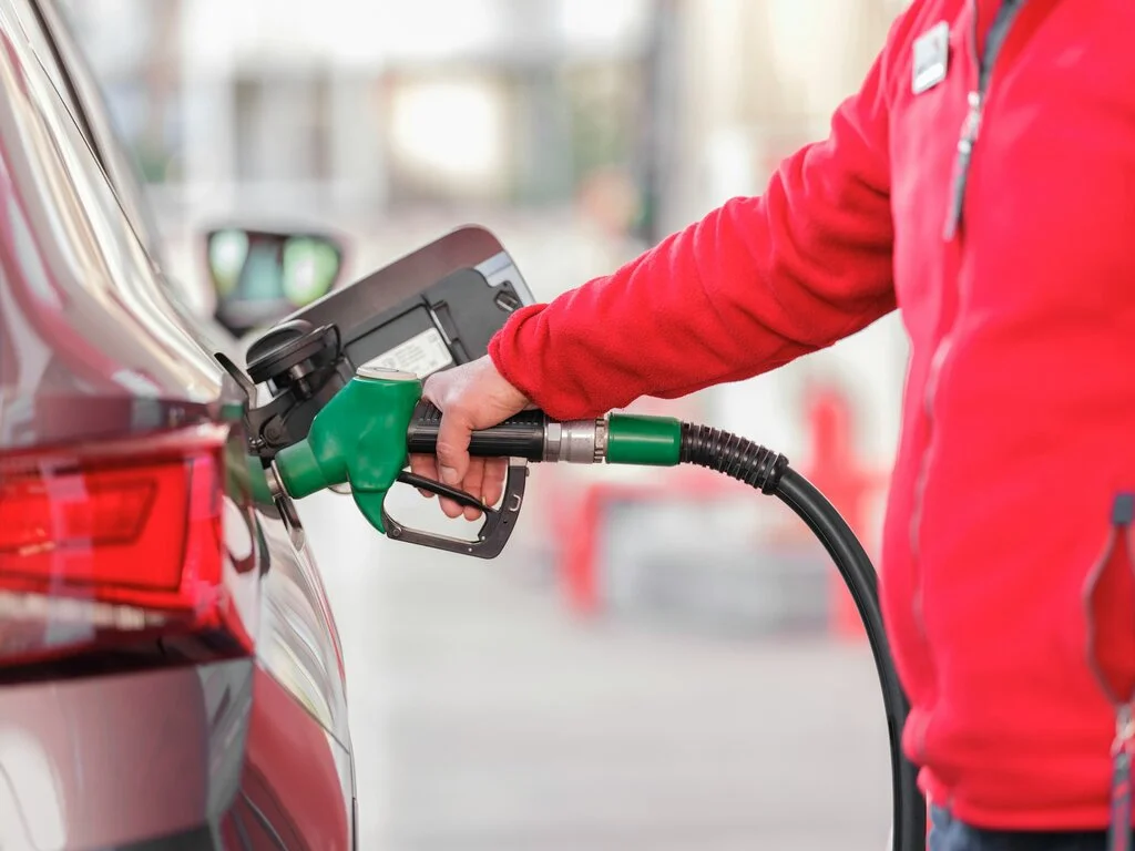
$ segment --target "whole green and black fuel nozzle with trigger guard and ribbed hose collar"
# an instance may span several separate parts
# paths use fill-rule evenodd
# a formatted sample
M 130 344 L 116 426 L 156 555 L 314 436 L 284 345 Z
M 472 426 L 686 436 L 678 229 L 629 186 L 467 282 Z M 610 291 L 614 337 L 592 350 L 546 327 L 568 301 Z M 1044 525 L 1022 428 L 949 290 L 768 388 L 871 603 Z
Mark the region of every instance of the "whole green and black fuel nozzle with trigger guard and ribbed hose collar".
M 474 431 L 471 455 L 510 460 L 504 499 L 484 505 L 470 494 L 406 470 L 410 455 L 437 454 L 442 412 L 421 398 L 415 376 L 363 366 L 316 415 L 306 439 L 281 449 L 272 462 L 280 488 L 301 498 L 350 485 L 367 521 L 396 540 L 493 558 L 504 548 L 523 503 L 529 462 L 674 466 L 699 464 L 771 492 L 787 465 L 776 453 L 704 426 L 669 416 L 609 414 L 556 421 L 524 411 Z M 409 529 L 386 512 L 389 489 L 403 482 L 477 508 L 486 522 L 470 542 Z

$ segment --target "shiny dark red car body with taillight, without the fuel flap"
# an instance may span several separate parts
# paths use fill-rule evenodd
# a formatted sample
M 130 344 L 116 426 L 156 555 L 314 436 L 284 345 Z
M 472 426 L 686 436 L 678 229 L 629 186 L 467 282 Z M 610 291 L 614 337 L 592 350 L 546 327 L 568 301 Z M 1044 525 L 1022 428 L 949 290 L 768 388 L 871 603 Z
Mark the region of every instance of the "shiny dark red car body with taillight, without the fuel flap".
M 0 849 L 355 846 L 343 655 L 51 0 L 0 0 Z

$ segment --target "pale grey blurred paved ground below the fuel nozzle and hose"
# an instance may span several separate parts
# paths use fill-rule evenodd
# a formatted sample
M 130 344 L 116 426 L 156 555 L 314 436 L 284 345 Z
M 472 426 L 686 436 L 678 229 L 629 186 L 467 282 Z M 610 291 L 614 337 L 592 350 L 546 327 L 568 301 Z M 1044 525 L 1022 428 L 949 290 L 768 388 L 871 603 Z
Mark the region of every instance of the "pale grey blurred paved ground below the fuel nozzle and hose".
M 885 848 L 866 648 L 582 624 L 522 551 L 480 563 L 323 530 L 364 849 Z

